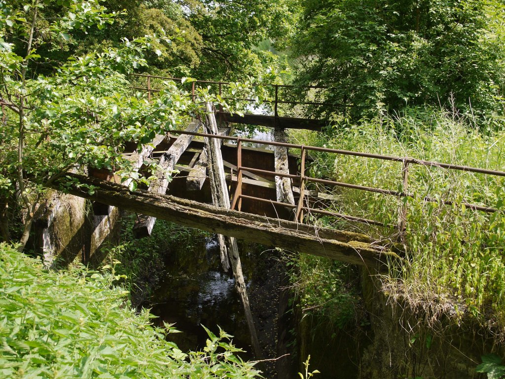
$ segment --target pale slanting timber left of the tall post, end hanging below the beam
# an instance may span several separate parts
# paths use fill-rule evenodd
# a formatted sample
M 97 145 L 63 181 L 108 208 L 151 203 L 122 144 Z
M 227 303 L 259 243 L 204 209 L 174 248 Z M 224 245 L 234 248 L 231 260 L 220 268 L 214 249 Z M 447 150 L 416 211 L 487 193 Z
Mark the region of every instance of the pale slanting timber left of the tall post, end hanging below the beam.
M 195 132 L 200 128 L 199 121 L 193 121 L 186 128 L 187 131 Z M 183 134 L 177 138 L 172 144 L 167 153 L 160 158 L 159 169 L 156 173 L 157 180 L 149 185 L 147 191 L 156 194 L 165 194 L 167 192 L 168 183 L 170 181 L 169 173 L 174 170 L 174 166 L 188 148 L 193 140 L 193 135 Z M 151 235 L 153 226 L 155 225 L 156 217 L 152 215 L 140 214 L 133 225 L 133 235 L 135 238 L 142 238 Z

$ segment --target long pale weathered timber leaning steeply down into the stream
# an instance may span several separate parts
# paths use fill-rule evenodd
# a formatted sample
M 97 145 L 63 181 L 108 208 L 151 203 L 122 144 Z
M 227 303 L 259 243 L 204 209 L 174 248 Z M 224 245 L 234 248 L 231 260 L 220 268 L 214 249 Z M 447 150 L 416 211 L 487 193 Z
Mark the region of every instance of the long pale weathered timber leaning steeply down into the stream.
M 218 127 L 216 123 L 216 115 L 213 110 L 211 103 L 206 103 L 206 122 L 205 128 L 207 133 L 218 134 Z M 221 144 L 217 138 L 205 138 L 206 148 L 208 150 L 210 158 L 209 166 L 209 178 L 211 182 L 211 192 L 212 201 L 214 205 L 230 209 L 230 198 L 228 195 L 228 187 L 226 186 L 226 176 L 224 172 L 223 157 L 221 155 Z M 240 263 L 240 255 L 238 253 L 237 240 L 233 237 L 226 237 L 228 242 L 228 254 L 226 254 L 226 245 L 224 245 L 225 236 L 218 234 L 220 249 L 221 249 L 221 259 L 223 267 L 226 267 L 228 262 L 223 262 L 223 260 L 231 262 L 231 269 L 233 271 L 233 276 L 235 277 L 235 288 L 242 299 L 242 305 L 244 306 L 245 319 L 247 320 L 247 325 L 249 326 L 249 332 L 251 336 L 252 349 L 257 357 L 261 359 L 263 356 L 260 348 L 260 343 L 258 341 L 258 335 L 256 333 L 256 327 L 254 325 L 254 320 L 252 318 L 252 312 L 250 310 L 249 299 L 247 297 L 247 289 L 245 287 L 245 280 L 242 274 L 242 265 Z M 221 245 L 223 243 L 223 245 Z M 229 266 L 228 266 L 229 267 Z

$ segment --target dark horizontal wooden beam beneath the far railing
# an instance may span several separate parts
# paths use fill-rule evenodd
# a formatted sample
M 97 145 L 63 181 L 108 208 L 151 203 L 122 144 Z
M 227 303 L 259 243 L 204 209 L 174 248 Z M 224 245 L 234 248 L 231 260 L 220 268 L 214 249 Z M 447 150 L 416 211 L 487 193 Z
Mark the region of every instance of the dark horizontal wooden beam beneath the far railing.
M 321 131 L 322 128 L 326 126 L 326 121 L 307 118 L 277 117 L 276 124 L 274 116 L 253 114 L 245 114 L 243 116 L 239 116 L 237 114 L 231 115 L 228 112 L 216 112 L 216 114 L 221 115 L 221 118 L 224 122 L 247 125 L 261 125 L 271 128 L 277 125 L 285 129 L 307 129 Z

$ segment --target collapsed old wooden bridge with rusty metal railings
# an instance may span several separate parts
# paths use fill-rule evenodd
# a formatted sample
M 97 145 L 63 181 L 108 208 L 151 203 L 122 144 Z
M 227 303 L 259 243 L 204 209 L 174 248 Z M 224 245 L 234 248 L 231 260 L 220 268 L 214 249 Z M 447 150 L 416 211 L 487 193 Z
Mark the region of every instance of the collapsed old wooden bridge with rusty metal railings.
M 173 79 L 149 75 L 140 75 L 140 77 L 146 79 L 147 86 L 134 88 L 146 90 L 149 98 L 156 92 L 156 89 L 151 86 L 151 80 L 154 78 Z M 220 94 L 222 86 L 227 84 L 210 81 L 202 83 L 219 86 Z M 192 83 L 193 96 L 194 85 L 195 82 Z M 335 199 L 331 193 L 326 193 L 324 188 L 347 187 L 398 199 L 410 197 L 413 196 L 408 192 L 410 165 L 505 176 L 505 172 L 501 171 L 414 158 L 288 144 L 284 133 L 285 128 L 321 130 L 324 122 L 280 117 L 279 104 L 317 105 L 320 103 L 279 100 L 279 87 L 288 88 L 289 86 L 274 85 L 275 100 L 272 101 L 274 112 L 271 116 L 254 114 L 237 116 L 219 108 L 215 113 L 208 112 L 205 122 L 195 121 L 186 130 L 174 130 L 170 135 L 157 136 L 154 144 L 143 147 L 140 153 L 136 152 L 136 147 L 132 146 L 125 155 L 139 171 L 144 170 L 145 160 L 160 160 L 160 167 L 163 170 L 158 180 L 149 188 L 131 192 L 124 185 L 125 183 L 119 184 L 118 178 L 115 178 L 113 174 L 95 170 L 88 176 L 71 175 L 81 183 L 93 185 L 92 195 L 88 193 L 87 188 L 79 188 L 75 185 L 70 188 L 70 193 L 94 200 L 95 214 L 107 214 L 110 212 L 110 206 L 136 212 L 140 216 L 134 231 L 139 237 L 150 234 L 156 218 L 160 218 L 267 246 L 376 267 L 384 261 L 385 255 L 392 254 L 385 244 L 372 241 L 361 233 L 318 227 L 310 220 L 324 215 L 350 222 L 395 228 L 397 235 L 401 236 L 406 220 L 406 209 L 402 208 L 403 203 L 398 201 L 397 224 L 385 225 L 379 220 L 332 211 L 328 207 L 328 202 Z M 220 129 L 217 127 L 216 119 L 220 121 Z M 229 123 L 271 127 L 274 129 L 274 140 L 229 136 Z M 213 124 L 215 124 L 214 127 Z M 200 128 L 204 129 L 203 132 L 200 132 Z M 262 146 L 262 148 L 257 146 Z M 398 180 L 402 191 L 311 177 L 306 166 L 313 162 L 311 153 L 314 152 L 398 162 L 399 172 L 401 172 Z M 174 169 L 179 173 L 175 174 L 172 182 L 169 183 L 165 172 Z M 221 171 L 221 178 L 213 177 L 213 173 L 217 171 Z M 221 187 L 219 187 L 220 180 Z M 314 184 L 319 184 L 323 191 L 314 191 Z M 216 186 L 219 187 L 220 192 L 226 192 L 225 197 L 228 200 L 222 200 L 224 203 L 216 203 L 214 196 L 214 192 L 218 191 Z M 435 201 L 429 198 L 425 200 Z M 442 200 L 442 202 L 450 204 L 450 201 Z M 484 212 L 496 211 L 496 209 L 480 205 L 466 204 L 466 206 Z M 307 217 L 308 215 L 310 217 Z

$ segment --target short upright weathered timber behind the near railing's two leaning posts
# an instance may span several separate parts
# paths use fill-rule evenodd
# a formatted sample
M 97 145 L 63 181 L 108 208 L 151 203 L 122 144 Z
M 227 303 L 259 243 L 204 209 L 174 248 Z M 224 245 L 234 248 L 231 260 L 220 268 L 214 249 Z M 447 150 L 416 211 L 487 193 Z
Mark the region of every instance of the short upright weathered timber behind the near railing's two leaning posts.
M 274 130 L 274 141 L 287 143 L 286 132 L 284 129 L 276 127 Z M 275 172 L 289 174 L 288 151 L 284 146 L 275 146 Z M 291 179 L 281 176 L 275 177 L 275 189 L 277 192 L 277 201 L 294 205 L 293 190 L 291 188 Z M 288 209 L 288 208 L 287 208 Z M 291 208 L 289 208 L 291 210 Z M 294 215 L 293 215 L 294 217 Z

